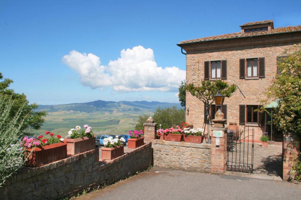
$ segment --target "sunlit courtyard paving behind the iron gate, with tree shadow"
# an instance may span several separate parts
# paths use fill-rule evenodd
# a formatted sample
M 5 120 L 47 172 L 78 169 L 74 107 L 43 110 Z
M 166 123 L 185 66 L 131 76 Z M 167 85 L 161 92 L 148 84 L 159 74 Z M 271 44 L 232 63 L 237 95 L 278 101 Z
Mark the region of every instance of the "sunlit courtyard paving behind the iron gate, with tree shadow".
M 251 146 L 251 143 L 249 143 Z M 249 148 L 250 148 L 249 146 Z M 239 155 L 239 145 L 237 148 L 237 155 Z M 243 149 L 243 147 L 241 147 Z M 245 152 L 247 145 L 245 145 Z M 250 152 L 250 150 L 249 150 Z M 232 154 L 230 153 L 230 160 Z M 235 153 L 233 153 L 235 159 Z M 251 154 L 249 153 L 249 163 Z M 242 159 L 242 156 L 241 156 Z M 238 160 L 238 158 L 237 158 Z M 246 161 L 246 157 L 245 157 Z M 261 146 L 261 143 L 254 143 L 254 161 L 253 161 L 253 174 L 244 172 L 231 172 L 227 171 L 226 175 L 239 175 L 251 178 L 261 178 L 269 180 L 282 180 L 282 145 L 268 145 L 267 148 Z

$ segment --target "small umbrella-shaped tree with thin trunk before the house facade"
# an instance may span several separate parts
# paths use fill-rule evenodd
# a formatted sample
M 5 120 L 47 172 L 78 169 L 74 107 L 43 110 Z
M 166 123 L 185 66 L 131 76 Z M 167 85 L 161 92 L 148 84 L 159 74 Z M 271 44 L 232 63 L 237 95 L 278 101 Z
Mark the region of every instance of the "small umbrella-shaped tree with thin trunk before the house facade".
M 231 97 L 232 93 L 236 91 L 236 85 L 229 85 L 227 82 L 221 80 L 201 80 L 197 85 L 194 85 L 193 83 L 186 85 L 186 90 L 188 90 L 192 96 L 201 100 L 206 108 L 206 113 L 209 113 L 210 106 L 214 102 L 213 96 L 216 95 L 217 91 L 219 90 L 221 94 L 226 97 Z M 209 115 L 207 115 L 206 123 L 209 138 Z

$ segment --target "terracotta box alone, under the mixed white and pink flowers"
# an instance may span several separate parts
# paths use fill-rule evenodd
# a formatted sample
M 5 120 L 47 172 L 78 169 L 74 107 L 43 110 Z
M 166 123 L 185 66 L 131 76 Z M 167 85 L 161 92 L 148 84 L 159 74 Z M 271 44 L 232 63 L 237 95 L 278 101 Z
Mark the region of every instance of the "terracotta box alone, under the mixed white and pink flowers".
M 76 139 L 65 138 L 63 141 L 67 142 L 67 154 L 71 155 L 79 154 L 95 148 L 95 137 L 82 137 Z

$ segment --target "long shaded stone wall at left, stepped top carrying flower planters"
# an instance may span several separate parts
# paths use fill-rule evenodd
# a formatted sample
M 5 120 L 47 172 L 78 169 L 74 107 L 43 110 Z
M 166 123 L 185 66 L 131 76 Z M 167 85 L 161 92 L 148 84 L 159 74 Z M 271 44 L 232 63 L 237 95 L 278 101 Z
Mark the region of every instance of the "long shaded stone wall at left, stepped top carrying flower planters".
M 111 160 L 99 160 L 99 149 L 37 168 L 24 167 L 5 186 L 0 199 L 58 199 L 109 185 L 151 166 L 151 143 Z

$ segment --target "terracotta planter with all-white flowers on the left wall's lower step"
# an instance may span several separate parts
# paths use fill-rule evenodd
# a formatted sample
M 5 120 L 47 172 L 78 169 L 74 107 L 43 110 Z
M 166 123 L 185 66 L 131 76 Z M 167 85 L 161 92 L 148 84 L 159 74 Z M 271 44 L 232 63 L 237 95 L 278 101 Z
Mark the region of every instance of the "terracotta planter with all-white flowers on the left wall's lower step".
M 124 138 L 118 139 L 116 136 L 105 138 L 104 147 L 101 148 L 101 159 L 102 160 L 112 160 L 123 154 L 123 142 L 126 140 Z

